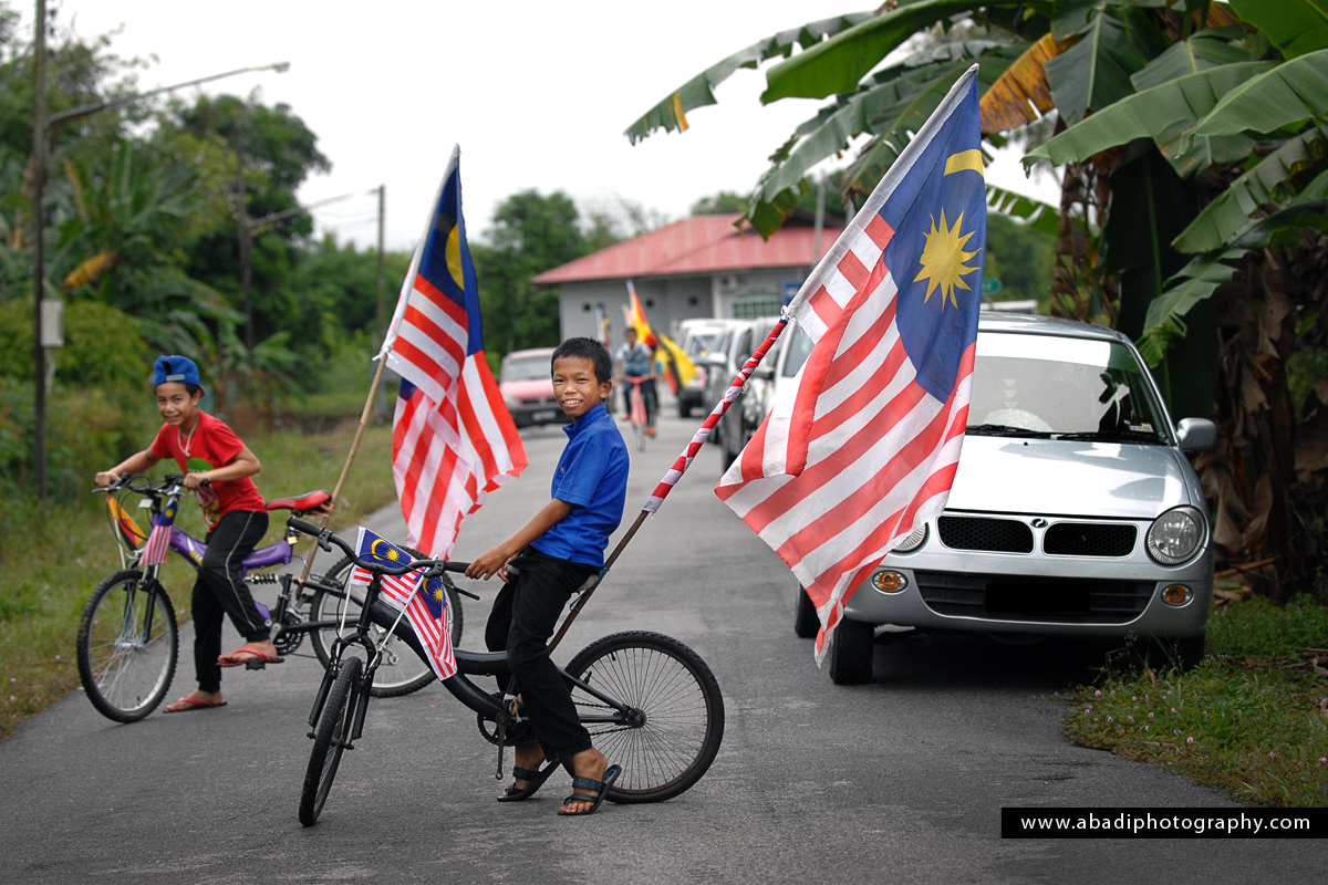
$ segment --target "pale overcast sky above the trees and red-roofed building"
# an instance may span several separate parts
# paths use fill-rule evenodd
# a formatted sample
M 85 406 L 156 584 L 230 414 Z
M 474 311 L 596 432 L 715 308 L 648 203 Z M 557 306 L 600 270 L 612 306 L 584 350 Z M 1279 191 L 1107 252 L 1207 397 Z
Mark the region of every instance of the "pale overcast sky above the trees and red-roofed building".
M 31 3 L 16 3 L 27 7 Z M 688 115 L 687 133 L 631 146 L 623 130 L 720 58 L 778 31 L 869 8 L 843 0 L 669 3 L 453 3 L 380 0 L 48 0 L 85 37 L 118 29 L 121 56 L 155 56 L 142 89 L 286 60 L 286 74 L 205 86 L 286 102 L 319 137 L 332 171 L 300 188 L 304 203 L 386 184 L 389 249 L 409 249 L 454 143 L 466 224 L 489 227 L 509 194 L 562 190 L 583 208 L 619 198 L 668 219 L 699 198 L 748 192 L 766 157 L 819 102 L 762 107 L 764 69 L 740 70 L 720 103 Z M 1015 157 L 991 180 L 1041 199 Z M 373 196 L 316 210 L 320 230 L 372 244 Z

